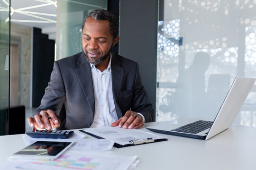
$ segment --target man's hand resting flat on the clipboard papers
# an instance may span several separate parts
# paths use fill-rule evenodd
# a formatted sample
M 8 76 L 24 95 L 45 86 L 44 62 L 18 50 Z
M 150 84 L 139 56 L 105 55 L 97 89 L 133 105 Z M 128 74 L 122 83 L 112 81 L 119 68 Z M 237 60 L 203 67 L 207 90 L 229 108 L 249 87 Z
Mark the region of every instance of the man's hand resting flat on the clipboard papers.
M 118 126 L 126 128 L 140 128 L 143 126 L 143 118 L 135 111 L 128 110 L 123 117 L 111 123 L 111 127 Z

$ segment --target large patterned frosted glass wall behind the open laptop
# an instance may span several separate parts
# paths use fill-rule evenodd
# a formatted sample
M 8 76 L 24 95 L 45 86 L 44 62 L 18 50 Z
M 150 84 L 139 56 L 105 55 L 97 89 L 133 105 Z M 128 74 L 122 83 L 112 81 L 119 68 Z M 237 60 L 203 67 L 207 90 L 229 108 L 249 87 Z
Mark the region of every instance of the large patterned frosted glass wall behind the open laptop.
M 214 119 L 236 76 L 256 77 L 255 0 L 160 0 L 156 121 Z M 256 127 L 253 87 L 235 120 Z

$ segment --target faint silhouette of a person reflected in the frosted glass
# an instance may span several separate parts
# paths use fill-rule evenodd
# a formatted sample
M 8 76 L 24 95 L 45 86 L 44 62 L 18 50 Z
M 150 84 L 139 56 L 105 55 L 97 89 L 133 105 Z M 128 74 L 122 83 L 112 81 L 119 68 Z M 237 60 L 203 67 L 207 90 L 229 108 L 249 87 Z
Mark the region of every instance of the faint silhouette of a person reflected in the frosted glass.
M 209 54 L 197 52 L 192 65 L 177 78 L 179 88 L 175 91 L 175 101 L 179 118 L 204 118 L 209 112 L 205 92 L 205 72 L 209 64 Z

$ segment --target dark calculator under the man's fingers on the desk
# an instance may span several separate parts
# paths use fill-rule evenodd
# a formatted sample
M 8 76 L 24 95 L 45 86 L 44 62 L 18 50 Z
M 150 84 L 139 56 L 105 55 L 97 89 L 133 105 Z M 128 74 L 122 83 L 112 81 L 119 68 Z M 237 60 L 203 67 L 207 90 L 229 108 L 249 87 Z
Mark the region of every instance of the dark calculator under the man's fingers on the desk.
M 73 135 L 73 131 L 67 130 L 38 130 L 36 132 L 26 132 L 26 134 L 33 138 L 68 138 Z

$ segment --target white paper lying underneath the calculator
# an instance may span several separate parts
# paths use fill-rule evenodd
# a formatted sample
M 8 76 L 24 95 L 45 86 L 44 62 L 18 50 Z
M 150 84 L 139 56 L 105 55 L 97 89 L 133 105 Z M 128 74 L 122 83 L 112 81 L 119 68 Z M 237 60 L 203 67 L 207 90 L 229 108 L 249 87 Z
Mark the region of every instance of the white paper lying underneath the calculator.
M 69 138 L 66 138 L 66 139 L 33 138 L 33 137 L 30 137 L 27 135 L 23 135 L 22 137 L 23 137 L 24 142 L 28 145 L 28 144 L 32 144 L 36 141 L 65 141 L 65 142 L 77 141 L 77 140 L 84 138 L 85 135 L 83 135 L 80 132 L 74 132 L 74 134 L 72 136 L 70 136 Z

